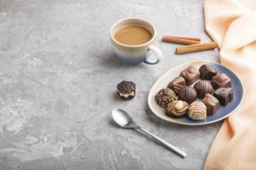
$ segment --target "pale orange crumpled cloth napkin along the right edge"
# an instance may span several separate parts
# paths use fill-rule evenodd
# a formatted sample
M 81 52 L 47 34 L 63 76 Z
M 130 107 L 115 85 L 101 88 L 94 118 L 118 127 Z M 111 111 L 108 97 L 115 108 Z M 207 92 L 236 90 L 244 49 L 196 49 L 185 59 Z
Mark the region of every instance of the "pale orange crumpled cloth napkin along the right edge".
M 256 0 L 206 0 L 204 12 L 220 63 L 244 85 L 244 100 L 223 121 L 204 169 L 256 169 Z

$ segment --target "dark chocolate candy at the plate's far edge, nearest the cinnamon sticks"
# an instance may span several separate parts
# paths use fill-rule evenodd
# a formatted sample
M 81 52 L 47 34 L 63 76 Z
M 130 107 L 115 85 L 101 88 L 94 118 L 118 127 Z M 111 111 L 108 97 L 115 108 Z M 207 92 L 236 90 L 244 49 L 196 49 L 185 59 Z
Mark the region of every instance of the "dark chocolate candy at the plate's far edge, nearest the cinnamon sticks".
M 212 80 L 213 76 L 216 76 L 217 74 L 216 69 L 209 64 L 203 64 L 200 66 L 199 72 L 201 80 Z

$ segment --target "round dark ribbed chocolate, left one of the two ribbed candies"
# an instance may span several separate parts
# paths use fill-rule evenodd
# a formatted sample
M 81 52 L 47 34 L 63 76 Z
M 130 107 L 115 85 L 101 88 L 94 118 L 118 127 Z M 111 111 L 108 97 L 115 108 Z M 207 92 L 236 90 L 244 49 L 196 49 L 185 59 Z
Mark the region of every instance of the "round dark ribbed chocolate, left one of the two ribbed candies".
M 197 93 L 192 87 L 182 87 L 182 89 L 178 93 L 178 99 L 186 101 L 188 104 L 191 104 L 196 100 Z

